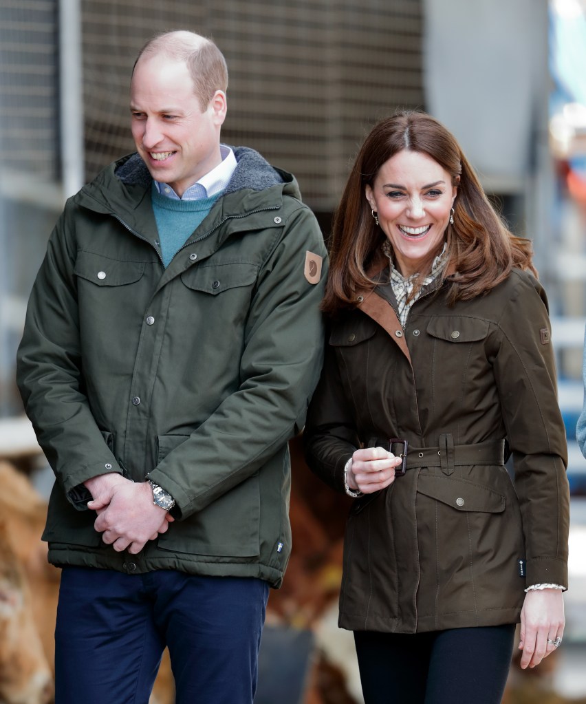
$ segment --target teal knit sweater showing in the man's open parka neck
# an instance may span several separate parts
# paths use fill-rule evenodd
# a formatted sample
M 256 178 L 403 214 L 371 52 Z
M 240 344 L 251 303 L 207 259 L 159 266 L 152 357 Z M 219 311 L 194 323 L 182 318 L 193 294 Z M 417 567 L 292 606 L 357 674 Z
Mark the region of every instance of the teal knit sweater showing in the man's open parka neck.
M 151 189 L 153 211 L 165 267 L 185 244 L 186 239 L 195 232 L 221 195 L 217 193 L 211 198 L 201 198 L 196 201 L 177 201 L 162 196 L 153 184 Z

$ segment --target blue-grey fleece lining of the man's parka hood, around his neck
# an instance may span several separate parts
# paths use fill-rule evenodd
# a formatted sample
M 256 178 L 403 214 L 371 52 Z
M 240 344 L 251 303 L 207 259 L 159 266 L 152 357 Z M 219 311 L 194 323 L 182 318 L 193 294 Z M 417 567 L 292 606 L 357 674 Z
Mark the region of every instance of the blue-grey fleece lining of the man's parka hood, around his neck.
M 227 185 L 224 194 L 235 193 L 243 188 L 253 191 L 264 191 L 266 188 L 283 183 L 284 180 L 265 158 L 254 149 L 247 146 L 232 147 L 238 165 Z M 139 156 L 133 154 L 115 171 L 115 175 L 125 184 L 149 187 L 152 182 L 151 174 L 146 164 Z

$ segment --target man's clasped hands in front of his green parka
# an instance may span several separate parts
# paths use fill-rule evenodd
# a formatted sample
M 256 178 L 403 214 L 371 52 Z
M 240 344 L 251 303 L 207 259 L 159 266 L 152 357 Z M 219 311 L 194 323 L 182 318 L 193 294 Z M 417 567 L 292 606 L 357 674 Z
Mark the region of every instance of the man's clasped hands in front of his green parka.
M 139 553 L 149 540 L 167 532 L 174 518 L 153 503 L 148 482 L 131 482 L 116 472 L 100 474 L 84 482 L 92 501 L 87 508 L 96 511 L 96 531 L 115 551 Z

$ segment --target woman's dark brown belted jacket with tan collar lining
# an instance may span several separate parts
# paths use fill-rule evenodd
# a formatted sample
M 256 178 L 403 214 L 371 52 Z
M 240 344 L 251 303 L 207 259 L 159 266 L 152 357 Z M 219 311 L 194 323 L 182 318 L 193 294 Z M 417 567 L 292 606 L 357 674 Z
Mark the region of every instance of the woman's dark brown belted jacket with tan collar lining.
M 390 285 L 361 298 L 331 322 L 307 460 L 343 491 L 353 451 L 396 438 L 407 470 L 352 505 L 340 626 L 514 623 L 526 586 L 568 584 L 566 436 L 544 290 L 514 270 L 449 307 L 447 284 L 431 284 L 405 330 Z

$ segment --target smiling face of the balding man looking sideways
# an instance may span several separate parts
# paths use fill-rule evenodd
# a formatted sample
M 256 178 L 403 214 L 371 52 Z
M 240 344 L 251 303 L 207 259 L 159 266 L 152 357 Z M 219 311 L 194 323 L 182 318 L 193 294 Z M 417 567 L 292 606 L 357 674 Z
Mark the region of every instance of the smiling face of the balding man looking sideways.
M 201 111 L 184 61 L 154 54 L 137 63 L 130 86 L 132 137 L 155 181 L 178 196 L 221 161 L 219 131 L 226 96 L 218 90 Z

